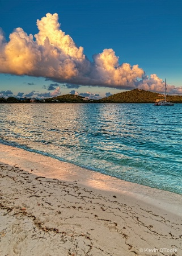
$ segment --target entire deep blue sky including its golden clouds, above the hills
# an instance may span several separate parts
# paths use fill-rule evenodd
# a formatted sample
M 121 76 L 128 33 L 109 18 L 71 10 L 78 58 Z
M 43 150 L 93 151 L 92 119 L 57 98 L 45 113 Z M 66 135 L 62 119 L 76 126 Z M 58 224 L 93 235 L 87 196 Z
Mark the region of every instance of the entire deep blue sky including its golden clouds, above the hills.
M 0 97 L 182 95 L 181 0 L 0 0 Z

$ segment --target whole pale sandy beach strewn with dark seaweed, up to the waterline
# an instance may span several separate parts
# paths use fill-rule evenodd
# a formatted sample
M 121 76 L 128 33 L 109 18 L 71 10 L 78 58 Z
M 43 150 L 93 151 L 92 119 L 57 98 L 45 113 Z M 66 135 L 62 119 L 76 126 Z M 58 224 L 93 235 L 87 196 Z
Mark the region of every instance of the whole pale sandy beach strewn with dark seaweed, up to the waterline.
M 0 255 L 182 255 L 182 196 L 0 144 Z

